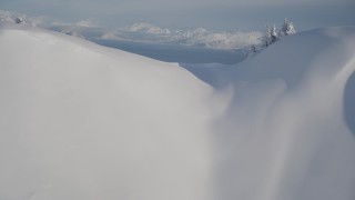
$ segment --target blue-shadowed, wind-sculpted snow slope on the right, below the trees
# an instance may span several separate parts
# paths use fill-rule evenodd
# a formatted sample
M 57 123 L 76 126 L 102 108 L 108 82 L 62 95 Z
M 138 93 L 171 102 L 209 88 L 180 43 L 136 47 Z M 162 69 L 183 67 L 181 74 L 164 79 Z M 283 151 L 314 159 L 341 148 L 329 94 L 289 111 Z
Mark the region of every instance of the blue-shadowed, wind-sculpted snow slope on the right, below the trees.
M 219 199 L 355 199 L 354 47 L 355 28 L 320 29 L 220 71 Z

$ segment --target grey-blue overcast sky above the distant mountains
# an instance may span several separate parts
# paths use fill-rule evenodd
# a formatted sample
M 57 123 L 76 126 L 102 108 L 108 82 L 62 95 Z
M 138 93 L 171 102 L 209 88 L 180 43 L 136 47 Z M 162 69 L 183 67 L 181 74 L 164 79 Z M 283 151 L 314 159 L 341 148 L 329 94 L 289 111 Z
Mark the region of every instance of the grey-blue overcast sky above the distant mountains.
M 0 0 L 0 9 L 65 22 L 91 19 L 103 27 L 263 30 L 285 17 L 298 30 L 355 26 L 355 0 Z

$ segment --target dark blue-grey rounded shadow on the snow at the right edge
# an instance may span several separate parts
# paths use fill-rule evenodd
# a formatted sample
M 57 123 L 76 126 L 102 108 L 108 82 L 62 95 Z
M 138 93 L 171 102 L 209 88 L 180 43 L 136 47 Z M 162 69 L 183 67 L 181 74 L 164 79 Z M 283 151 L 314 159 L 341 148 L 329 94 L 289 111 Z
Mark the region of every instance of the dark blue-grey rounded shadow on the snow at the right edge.
M 344 118 L 347 127 L 355 136 L 355 71 L 348 78 L 344 90 Z

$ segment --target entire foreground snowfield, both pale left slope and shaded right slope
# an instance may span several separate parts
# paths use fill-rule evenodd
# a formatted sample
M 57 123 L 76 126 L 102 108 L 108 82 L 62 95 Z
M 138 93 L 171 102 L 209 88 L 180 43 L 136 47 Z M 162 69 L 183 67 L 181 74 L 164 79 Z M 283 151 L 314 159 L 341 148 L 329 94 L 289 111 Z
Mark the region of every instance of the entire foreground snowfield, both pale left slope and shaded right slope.
M 355 199 L 355 28 L 200 70 L 2 27 L 0 199 Z

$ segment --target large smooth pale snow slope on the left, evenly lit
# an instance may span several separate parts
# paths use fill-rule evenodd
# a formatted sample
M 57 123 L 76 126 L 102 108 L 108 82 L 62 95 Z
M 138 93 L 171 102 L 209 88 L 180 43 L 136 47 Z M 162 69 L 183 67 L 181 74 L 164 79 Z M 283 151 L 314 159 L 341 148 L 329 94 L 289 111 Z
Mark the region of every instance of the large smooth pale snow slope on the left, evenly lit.
M 60 33 L 0 43 L 0 199 L 209 199 L 211 87 Z

